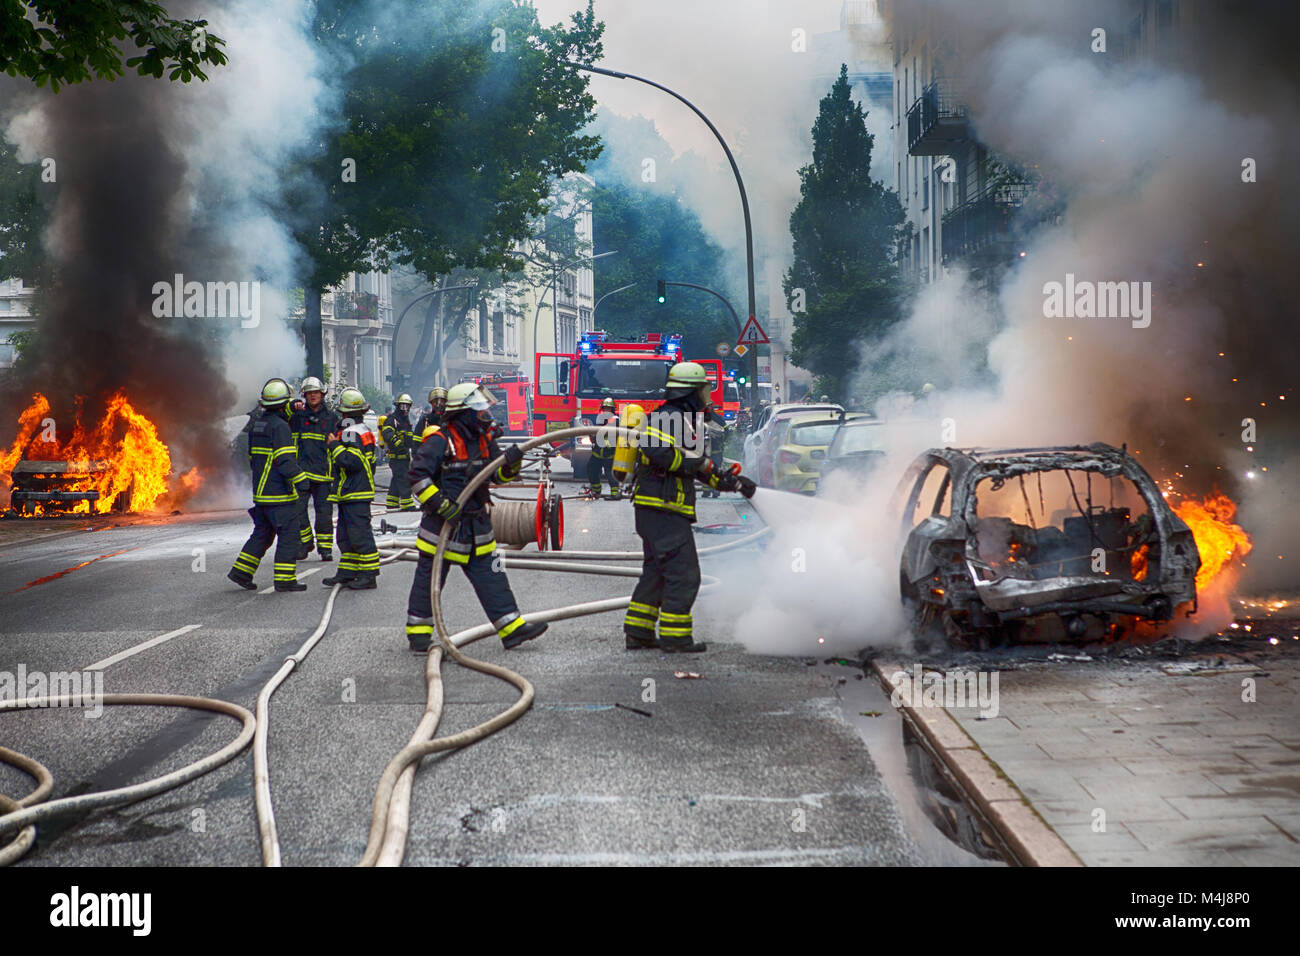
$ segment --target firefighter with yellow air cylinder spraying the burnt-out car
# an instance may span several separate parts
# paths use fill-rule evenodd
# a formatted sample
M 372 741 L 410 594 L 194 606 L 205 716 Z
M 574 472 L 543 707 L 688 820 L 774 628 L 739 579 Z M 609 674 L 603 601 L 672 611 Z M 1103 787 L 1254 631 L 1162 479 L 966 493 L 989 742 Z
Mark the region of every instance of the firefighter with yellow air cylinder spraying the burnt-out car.
M 738 466 L 720 471 L 703 451 L 703 412 L 711 403 L 705 367 L 681 362 L 668 372 L 664 403 L 650 415 L 633 475 L 632 503 L 645 559 L 641 580 L 623 619 L 628 650 L 659 648 L 699 653 L 690 607 L 699 592 L 699 558 L 690 525 L 696 520 L 696 481 L 722 492 L 754 494 Z M 655 624 L 659 641 L 655 643 Z

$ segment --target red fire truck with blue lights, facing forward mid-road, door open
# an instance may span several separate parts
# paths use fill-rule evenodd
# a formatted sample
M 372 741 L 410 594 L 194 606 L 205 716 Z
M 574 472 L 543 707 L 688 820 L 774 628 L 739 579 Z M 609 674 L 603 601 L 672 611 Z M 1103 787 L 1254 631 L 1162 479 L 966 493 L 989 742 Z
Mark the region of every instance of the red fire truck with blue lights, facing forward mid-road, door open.
M 569 428 L 581 416 L 590 423 L 601 402 L 612 398 L 616 408 L 628 402 L 647 414 L 663 405 L 668 369 L 681 358 L 681 334 L 646 334 L 638 342 L 615 342 L 604 332 L 585 332 L 572 354 L 538 352 L 534 360 L 533 434 Z M 714 385 L 714 405 L 723 406 L 723 363 L 719 359 L 689 359 L 705 367 Z M 560 449 L 573 463 L 573 475 L 586 477 L 590 438 Z

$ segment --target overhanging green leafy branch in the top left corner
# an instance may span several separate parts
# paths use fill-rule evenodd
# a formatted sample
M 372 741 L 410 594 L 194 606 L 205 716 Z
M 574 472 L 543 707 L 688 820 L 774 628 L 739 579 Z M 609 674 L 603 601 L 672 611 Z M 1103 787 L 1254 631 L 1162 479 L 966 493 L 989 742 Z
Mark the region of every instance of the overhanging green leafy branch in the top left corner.
M 57 91 L 91 77 L 124 73 L 118 43 L 130 38 L 144 52 L 125 61 L 142 77 L 188 83 L 207 79 L 203 65 L 226 62 L 225 40 L 205 20 L 174 20 L 151 0 L 8 0 L 0 5 L 0 61 L 10 77 Z

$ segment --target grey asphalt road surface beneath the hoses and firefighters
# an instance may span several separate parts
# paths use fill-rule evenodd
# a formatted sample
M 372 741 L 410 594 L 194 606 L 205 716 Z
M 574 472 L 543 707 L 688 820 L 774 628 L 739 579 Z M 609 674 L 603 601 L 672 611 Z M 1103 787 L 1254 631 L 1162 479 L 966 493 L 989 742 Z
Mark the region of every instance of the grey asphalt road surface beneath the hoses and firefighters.
M 569 549 L 637 546 L 630 505 L 566 507 Z M 753 524 L 748 509 L 736 496 L 703 501 L 701 520 L 745 512 Z M 416 515 L 387 518 L 413 525 Z M 304 593 L 244 592 L 225 579 L 248 532 L 243 512 L 81 529 L 94 525 L 0 545 L 0 671 L 79 670 L 190 628 L 104 667 L 104 692 L 190 693 L 251 710 L 320 620 L 318 581 L 334 564 L 315 555 L 299 564 L 312 572 Z M 261 588 L 270 587 L 269 563 L 268 555 Z M 407 650 L 402 630 L 412 571 L 385 566 L 377 591 L 342 592 L 324 640 L 272 701 L 286 865 L 351 865 L 361 856 L 374 786 L 424 708 L 425 658 Z M 524 570 L 511 572 L 511 584 L 525 613 L 630 588 L 627 579 Z M 711 649 L 686 661 L 625 652 L 618 614 L 552 624 L 514 652 L 497 639 L 469 645 L 526 675 L 537 698 L 504 731 L 424 761 L 407 864 L 975 862 L 918 814 L 883 696 L 875 739 L 863 734 L 854 715 L 879 696 L 870 682 L 858 683 L 852 669 L 748 654 L 710 605 L 703 597 L 696 610 Z M 484 620 L 458 571 L 446 614 L 454 630 Z M 675 678 L 682 669 L 705 676 Z M 853 684 L 853 715 L 835 670 Z M 489 676 L 454 663 L 443 672 L 442 735 L 515 700 Z M 153 708 L 109 708 L 95 719 L 81 710 L 0 717 L 0 740 L 51 769 L 55 796 L 156 777 L 235 732 L 224 717 Z M 21 865 L 259 865 L 251 769 L 250 750 L 159 797 L 47 823 Z M 0 792 L 30 787 L 0 765 Z

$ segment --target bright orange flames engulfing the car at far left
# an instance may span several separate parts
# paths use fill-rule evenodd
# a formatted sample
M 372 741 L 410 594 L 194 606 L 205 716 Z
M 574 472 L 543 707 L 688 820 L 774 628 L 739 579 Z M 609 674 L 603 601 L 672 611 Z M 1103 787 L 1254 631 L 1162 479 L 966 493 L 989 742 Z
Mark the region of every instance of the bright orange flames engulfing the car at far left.
M 79 406 L 78 406 L 79 410 Z M 58 510 L 73 514 L 104 514 L 121 497 L 131 511 L 148 511 L 168 492 L 172 454 L 157 436 L 157 428 L 135 411 L 118 392 L 104 407 L 104 415 L 87 428 L 78 415 L 72 434 L 49 418 L 44 395 L 32 397 L 31 405 L 18 416 L 18 434 L 8 451 L 0 454 L 0 488 L 8 492 L 9 475 L 22 459 L 66 462 L 70 471 L 87 471 L 69 477 L 61 488 L 73 492 L 99 492 L 98 501 L 79 501 Z M 95 470 L 95 463 L 105 467 Z M 196 470 L 179 476 L 186 490 L 202 484 Z M 36 505 L 36 514 L 44 512 Z

